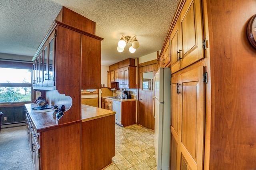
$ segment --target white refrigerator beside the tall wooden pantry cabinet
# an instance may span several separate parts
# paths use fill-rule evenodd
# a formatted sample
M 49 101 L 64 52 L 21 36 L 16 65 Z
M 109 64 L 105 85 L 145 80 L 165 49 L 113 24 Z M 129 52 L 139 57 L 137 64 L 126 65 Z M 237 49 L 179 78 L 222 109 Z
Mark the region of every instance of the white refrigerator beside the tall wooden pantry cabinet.
M 171 125 L 171 72 L 160 67 L 154 77 L 153 114 L 155 118 L 156 169 L 169 170 Z M 155 105 L 155 106 L 154 106 Z

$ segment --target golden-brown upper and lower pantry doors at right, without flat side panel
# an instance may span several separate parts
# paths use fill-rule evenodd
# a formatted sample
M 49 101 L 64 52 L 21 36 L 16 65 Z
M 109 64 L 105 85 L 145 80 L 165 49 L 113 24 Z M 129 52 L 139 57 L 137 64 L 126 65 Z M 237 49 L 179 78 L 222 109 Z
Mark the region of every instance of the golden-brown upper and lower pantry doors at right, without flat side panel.
M 180 5 L 160 54 L 164 57 L 161 65 L 169 65 L 172 73 L 170 167 L 200 170 L 204 159 L 205 63 L 196 62 L 204 58 L 202 3 L 186 0 Z

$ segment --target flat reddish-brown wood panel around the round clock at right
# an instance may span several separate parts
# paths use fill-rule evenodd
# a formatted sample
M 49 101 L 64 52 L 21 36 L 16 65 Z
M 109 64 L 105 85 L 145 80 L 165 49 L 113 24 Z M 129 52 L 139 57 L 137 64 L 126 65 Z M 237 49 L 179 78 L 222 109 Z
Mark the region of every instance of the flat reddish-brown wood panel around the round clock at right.
M 255 169 L 256 50 L 248 42 L 246 27 L 256 13 L 256 1 L 204 3 L 212 78 L 209 169 Z

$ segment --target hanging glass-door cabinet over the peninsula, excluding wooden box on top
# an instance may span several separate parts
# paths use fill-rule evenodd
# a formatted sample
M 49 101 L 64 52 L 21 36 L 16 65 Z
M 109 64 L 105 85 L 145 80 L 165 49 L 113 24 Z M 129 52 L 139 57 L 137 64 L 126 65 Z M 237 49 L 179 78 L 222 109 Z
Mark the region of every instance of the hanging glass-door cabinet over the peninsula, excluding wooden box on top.
M 56 22 L 50 36 L 42 45 L 42 52 L 38 51 L 38 57 L 34 60 L 37 70 L 37 76 L 33 76 L 37 82 L 34 89 L 59 90 L 58 87 L 76 81 L 75 77 L 79 82 L 77 73 L 81 73 L 80 89 L 100 89 L 100 69 L 93 68 L 100 68 L 100 50 L 97 49 L 100 49 L 101 40 L 102 38 Z M 81 46 L 82 50 L 79 49 Z

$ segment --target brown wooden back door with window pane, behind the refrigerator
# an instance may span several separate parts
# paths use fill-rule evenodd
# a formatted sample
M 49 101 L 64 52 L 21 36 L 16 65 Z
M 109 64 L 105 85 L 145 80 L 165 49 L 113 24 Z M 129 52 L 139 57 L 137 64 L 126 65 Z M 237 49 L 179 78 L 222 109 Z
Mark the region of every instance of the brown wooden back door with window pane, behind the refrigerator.
M 153 77 L 156 74 L 158 69 L 157 61 L 150 65 L 139 65 L 139 76 L 138 76 L 138 124 L 154 130 L 155 128 L 155 119 L 153 117 L 153 89 L 152 90 L 143 90 L 142 89 L 142 74 L 153 72 Z

